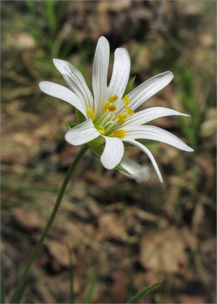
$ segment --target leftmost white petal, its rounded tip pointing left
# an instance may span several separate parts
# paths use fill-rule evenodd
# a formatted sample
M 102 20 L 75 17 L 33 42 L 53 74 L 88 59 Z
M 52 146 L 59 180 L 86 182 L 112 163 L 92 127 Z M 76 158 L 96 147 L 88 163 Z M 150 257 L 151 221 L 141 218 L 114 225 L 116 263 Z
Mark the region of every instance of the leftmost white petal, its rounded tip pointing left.
M 86 111 L 84 110 L 84 103 L 81 102 L 78 96 L 75 95 L 70 89 L 64 87 L 63 85 L 58 85 L 57 83 L 53 83 L 50 81 L 40 82 L 39 87 L 42 92 L 50 96 L 60 98 L 66 102 L 69 102 L 79 111 L 81 111 L 81 113 L 84 114 L 85 117 L 87 117 Z

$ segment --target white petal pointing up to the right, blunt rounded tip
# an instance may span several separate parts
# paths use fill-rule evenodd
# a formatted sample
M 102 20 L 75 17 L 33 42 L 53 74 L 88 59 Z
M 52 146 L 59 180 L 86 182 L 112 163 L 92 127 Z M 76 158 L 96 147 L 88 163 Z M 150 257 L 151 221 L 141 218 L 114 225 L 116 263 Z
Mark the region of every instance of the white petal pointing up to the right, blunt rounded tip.
M 156 94 L 158 91 L 163 89 L 173 79 L 173 73 L 170 71 L 158 74 L 147 81 L 143 82 L 132 92 L 129 96 L 129 107 L 134 111 L 145 102 L 148 98 Z

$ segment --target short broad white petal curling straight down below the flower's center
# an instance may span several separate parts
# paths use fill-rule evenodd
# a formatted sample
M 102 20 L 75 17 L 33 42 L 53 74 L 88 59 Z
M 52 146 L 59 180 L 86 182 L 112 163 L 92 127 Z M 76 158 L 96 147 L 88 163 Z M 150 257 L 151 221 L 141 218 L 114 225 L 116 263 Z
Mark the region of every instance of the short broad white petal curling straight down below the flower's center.
M 115 168 L 124 155 L 124 145 L 118 137 L 105 138 L 105 148 L 100 157 L 100 161 L 106 169 Z

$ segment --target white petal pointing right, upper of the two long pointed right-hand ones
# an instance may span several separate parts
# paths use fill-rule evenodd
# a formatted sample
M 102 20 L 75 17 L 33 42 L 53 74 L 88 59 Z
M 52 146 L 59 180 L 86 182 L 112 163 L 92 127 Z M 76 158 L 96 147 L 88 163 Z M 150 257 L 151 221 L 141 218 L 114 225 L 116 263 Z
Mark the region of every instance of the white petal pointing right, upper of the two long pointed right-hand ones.
M 126 124 L 124 126 L 129 126 L 129 124 L 133 124 L 134 126 L 143 125 L 143 123 L 148 123 L 153 119 L 163 116 L 170 116 L 170 115 L 191 116 L 188 114 L 177 112 L 172 109 L 167 109 L 163 107 L 153 107 L 139 111 L 135 113 L 133 116 L 128 116 L 128 118 L 126 119 Z

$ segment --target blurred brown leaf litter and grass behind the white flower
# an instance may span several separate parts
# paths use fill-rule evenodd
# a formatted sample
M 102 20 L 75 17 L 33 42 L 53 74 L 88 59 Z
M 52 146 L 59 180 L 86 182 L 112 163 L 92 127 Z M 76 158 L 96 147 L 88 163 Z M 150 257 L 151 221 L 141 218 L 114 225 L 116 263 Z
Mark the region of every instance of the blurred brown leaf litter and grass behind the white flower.
M 150 124 L 195 152 L 150 146 L 161 184 L 139 149 L 125 151 L 129 179 L 88 151 L 30 272 L 36 303 L 215 303 L 216 1 L 1 1 L 1 276 L 9 301 L 80 147 L 64 140 L 74 109 L 40 91 L 67 86 L 52 59 L 69 61 L 91 88 L 100 36 L 125 47 L 135 88 L 172 71 L 173 81 L 139 110 L 163 106 L 191 117 Z M 136 161 L 136 164 L 132 164 Z M 138 168 L 138 166 L 140 166 Z

